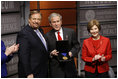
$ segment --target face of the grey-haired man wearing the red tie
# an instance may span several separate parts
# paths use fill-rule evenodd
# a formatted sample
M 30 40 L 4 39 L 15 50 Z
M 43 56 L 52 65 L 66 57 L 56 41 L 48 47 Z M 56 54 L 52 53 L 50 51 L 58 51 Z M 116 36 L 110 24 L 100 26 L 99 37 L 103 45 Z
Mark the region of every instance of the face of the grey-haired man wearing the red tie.
M 51 18 L 50 26 L 52 26 L 56 31 L 61 29 L 62 20 L 59 16 L 55 16 Z

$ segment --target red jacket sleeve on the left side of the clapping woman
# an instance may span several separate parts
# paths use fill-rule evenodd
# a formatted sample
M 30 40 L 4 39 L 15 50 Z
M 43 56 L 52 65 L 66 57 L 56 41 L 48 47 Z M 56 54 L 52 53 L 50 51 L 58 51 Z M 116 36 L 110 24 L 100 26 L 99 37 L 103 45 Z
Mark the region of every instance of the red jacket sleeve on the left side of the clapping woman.
M 87 52 L 87 47 L 86 47 L 86 42 L 83 42 L 83 46 L 82 46 L 82 59 L 85 62 L 92 62 L 93 57 L 88 56 L 88 52 Z

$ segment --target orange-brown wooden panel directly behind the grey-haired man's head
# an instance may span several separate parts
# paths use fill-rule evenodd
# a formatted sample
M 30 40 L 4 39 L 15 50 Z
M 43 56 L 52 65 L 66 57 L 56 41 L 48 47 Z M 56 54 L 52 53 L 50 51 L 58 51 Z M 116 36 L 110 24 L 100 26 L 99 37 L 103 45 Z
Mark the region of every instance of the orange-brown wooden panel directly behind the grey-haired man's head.
M 40 11 L 43 16 L 41 26 L 49 26 L 48 16 L 53 12 L 60 13 L 62 15 L 63 24 L 76 24 L 76 9 Z

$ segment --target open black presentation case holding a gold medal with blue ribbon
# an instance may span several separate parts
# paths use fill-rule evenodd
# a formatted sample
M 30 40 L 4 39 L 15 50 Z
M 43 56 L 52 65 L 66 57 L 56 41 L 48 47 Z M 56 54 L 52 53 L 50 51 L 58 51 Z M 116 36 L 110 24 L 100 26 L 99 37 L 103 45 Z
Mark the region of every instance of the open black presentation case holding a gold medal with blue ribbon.
M 56 49 L 59 51 L 59 61 L 70 61 L 70 56 L 68 55 L 69 43 L 67 40 L 56 41 Z

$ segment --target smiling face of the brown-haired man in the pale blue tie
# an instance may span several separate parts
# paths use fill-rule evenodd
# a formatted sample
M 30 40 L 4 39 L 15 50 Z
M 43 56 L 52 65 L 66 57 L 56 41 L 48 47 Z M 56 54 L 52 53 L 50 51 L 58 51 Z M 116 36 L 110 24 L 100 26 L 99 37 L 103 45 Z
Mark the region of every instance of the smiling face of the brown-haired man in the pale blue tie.
M 31 15 L 29 24 L 33 29 L 38 29 L 41 24 L 41 15 L 39 13 Z

